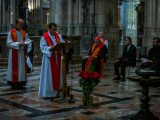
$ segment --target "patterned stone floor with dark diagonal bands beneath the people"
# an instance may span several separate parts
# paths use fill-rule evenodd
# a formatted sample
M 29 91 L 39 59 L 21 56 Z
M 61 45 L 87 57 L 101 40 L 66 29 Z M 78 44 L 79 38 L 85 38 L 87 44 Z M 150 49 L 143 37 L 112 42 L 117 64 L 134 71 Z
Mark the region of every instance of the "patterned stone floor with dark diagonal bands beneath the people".
M 94 105 L 91 109 L 82 106 L 82 91 L 79 87 L 78 71 L 75 65 L 67 75 L 67 83 L 72 86 L 75 103 L 69 104 L 59 98 L 51 102 L 38 96 L 40 66 L 28 74 L 24 90 L 10 90 L 7 86 L 6 67 L 0 68 L 0 120 L 129 120 L 140 109 L 141 87 L 129 80 L 113 81 L 113 70 L 104 77 L 94 90 Z M 150 110 L 160 118 L 160 87 L 150 88 Z

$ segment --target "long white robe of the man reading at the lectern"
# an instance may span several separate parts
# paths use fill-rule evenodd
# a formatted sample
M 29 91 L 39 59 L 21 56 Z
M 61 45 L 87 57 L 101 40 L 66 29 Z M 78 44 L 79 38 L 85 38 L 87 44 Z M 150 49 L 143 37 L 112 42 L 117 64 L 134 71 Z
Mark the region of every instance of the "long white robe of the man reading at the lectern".
M 48 31 L 48 34 L 53 42 L 53 45 L 55 46 L 57 44 L 55 36 L 51 36 L 49 31 Z M 60 42 L 64 43 L 63 38 L 60 35 L 59 37 L 60 37 Z M 42 66 L 41 66 L 41 73 L 40 73 L 38 95 L 41 97 L 54 97 L 57 94 L 57 91 L 53 89 L 51 65 L 50 65 L 50 58 L 52 56 L 53 51 L 49 51 L 50 47 L 47 46 L 47 42 L 43 36 L 41 37 L 41 40 L 40 40 L 40 49 L 41 49 L 41 52 L 43 53 L 43 57 L 42 57 L 42 63 L 41 63 Z M 60 71 L 61 71 L 60 84 L 62 84 L 62 69 Z

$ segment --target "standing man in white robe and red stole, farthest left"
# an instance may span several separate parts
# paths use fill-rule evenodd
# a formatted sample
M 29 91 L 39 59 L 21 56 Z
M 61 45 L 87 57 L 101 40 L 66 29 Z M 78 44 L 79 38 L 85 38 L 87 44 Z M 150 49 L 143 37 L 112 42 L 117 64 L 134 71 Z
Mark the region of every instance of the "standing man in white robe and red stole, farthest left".
M 26 45 L 32 42 L 23 30 L 24 21 L 16 20 L 16 28 L 9 31 L 7 47 L 9 48 L 7 83 L 11 89 L 21 89 L 26 84 Z

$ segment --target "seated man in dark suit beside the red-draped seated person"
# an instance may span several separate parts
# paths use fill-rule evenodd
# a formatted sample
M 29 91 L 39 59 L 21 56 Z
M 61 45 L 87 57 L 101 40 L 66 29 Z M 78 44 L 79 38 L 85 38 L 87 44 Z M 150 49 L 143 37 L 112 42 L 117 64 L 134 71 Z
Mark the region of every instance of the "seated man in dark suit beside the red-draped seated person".
M 136 66 L 136 47 L 135 45 L 132 44 L 132 39 L 129 36 L 125 37 L 125 46 L 123 48 L 123 54 L 119 58 L 119 61 L 117 61 L 114 64 L 114 70 L 115 70 L 115 75 L 116 77 L 113 80 L 125 80 L 125 67 L 126 66 L 131 66 L 135 67 Z M 119 67 L 121 67 L 121 75 L 122 79 L 119 73 Z

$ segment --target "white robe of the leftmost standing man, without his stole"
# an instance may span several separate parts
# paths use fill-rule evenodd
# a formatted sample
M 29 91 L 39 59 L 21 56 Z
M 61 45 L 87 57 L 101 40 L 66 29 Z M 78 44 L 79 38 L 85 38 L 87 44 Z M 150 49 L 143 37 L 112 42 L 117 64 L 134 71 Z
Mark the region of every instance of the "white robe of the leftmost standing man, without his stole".
M 14 58 L 12 58 L 12 50 L 13 49 L 17 49 L 18 50 L 18 82 L 23 82 L 26 81 L 26 77 L 25 77 L 25 55 L 24 55 L 24 46 L 19 45 L 20 42 L 22 42 L 22 33 L 21 31 L 17 31 L 16 30 L 16 34 L 17 34 L 17 42 L 13 42 L 12 37 L 11 37 L 11 32 L 9 31 L 8 36 L 7 36 L 7 47 L 9 48 L 8 51 L 8 70 L 7 70 L 7 81 L 12 81 L 12 59 L 14 60 Z M 26 37 L 25 37 L 25 44 L 29 44 L 30 42 L 32 42 L 29 38 L 28 38 L 28 34 L 26 33 Z

